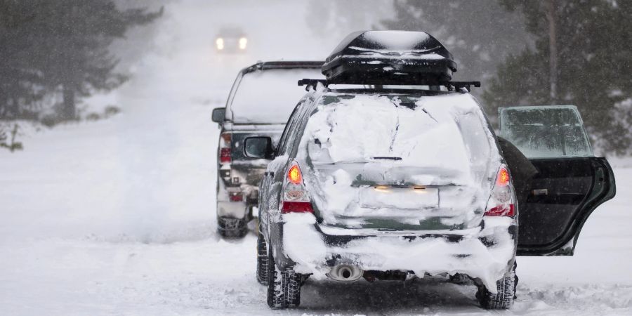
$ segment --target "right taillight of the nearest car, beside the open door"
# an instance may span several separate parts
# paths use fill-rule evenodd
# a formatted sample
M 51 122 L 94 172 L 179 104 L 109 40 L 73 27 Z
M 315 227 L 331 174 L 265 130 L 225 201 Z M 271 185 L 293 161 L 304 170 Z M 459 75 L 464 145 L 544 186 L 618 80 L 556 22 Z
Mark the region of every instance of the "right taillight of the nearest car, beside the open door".
M 485 216 L 515 216 L 515 196 L 507 166 L 504 164 L 496 173 L 492 195 L 487 200 Z

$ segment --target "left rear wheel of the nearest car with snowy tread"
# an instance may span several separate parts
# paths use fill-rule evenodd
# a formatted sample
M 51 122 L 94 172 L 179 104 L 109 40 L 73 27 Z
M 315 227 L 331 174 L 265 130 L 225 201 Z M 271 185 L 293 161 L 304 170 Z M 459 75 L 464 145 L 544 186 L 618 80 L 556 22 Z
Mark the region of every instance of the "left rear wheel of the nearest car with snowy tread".
M 268 255 L 268 305 L 274 309 L 296 308 L 301 303 L 301 275 L 294 270 L 280 271 L 275 258 Z

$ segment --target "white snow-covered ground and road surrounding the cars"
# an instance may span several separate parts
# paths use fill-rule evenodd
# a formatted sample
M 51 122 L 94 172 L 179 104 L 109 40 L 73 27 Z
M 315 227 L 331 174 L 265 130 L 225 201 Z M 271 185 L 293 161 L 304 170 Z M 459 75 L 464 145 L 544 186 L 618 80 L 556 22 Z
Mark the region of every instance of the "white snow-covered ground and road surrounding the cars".
M 473 287 L 419 279 L 308 280 L 300 309 L 268 309 L 254 234 L 227 242 L 214 231 L 211 109 L 256 58 L 213 55 L 212 40 L 200 40 L 214 35 L 207 15 L 236 9 L 199 8 L 168 6 L 173 32 L 159 41 L 181 49 L 147 56 L 129 84 L 86 100 L 121 114 L 25 131 L 24 151 L 0 151 L 0 315 L 486 314 Z M 252 10 L 254 24 L 269 18 Z M 296 54 L 315 59 L 308 48 Z M 632 159 L 613 164 L 617 197 L 588 220 L 576 255 L 519 258 L 518 301 L 506 314 L 632 315 Z

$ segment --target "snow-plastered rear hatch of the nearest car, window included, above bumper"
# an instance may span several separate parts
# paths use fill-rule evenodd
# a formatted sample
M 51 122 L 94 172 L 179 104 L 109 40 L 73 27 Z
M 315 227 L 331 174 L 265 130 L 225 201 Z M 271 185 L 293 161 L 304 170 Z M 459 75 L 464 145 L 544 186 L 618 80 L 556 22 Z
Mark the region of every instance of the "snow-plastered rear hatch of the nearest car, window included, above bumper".
M 325 224 L 442 230 L 477 225 L 499 166 L 468 95 L 320 98 L 301 140 Z M 492 150 L 493 148 L 493 150 Z

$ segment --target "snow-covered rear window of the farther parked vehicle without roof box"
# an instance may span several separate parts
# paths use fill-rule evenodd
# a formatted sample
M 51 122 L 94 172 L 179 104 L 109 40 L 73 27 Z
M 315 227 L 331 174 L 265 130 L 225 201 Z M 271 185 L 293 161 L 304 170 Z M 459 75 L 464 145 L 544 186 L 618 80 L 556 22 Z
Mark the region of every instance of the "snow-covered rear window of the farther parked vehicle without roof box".
M 305 87 L 298 80 L 324 79 L 320 68 L 277 69 L 244 74 L 229 110 L 235 123 L 285 124 Z

